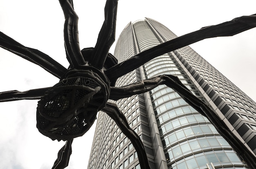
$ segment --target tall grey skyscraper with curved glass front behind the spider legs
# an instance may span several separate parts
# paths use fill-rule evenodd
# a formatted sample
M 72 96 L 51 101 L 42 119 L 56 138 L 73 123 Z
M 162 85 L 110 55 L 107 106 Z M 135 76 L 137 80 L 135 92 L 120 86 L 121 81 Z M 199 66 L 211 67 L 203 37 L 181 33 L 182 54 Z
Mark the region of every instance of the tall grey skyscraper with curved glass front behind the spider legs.
M 155 20 L 138 20 L 125 27 L 114 56 L 122 62 L 176 37 Z M 116 86 L 162 74 L 177 76 L 256 154 L 256 103 L 188 46 L 147 62 L 119 78 Z M 144 143 L 152 169 L 247 167 L 209 120 L 173 89 L 160 85 L 116 103 Z M 132 144 L 105 113 L 99 113 L 88 164 L 88 169 L 97 168 L 140 168 Z

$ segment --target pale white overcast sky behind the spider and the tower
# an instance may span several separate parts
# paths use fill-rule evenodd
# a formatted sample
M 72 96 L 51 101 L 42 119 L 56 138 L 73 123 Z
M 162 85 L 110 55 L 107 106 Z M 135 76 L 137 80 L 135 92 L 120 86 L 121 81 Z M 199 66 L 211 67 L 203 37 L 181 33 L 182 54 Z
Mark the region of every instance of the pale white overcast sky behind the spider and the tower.
M 94 47 L 104 20 L 105 0 L 74 0 L 80 47 Z M 130 21 L 152 18 L 177 36 L 204 26 L 256 13 L 255 0 L 119 0 L 116 40 Z M 0 0 L 0 31 L 68 67 L 63 45 L 64 16 L 57 0 Z M 248 96 L 256 100 L 256 29 L 234 37 L 190 45 Z M 110 52 L 113 53 L 115 44 Z M 58 79 L 42 68 L 0 49 L 0 91 L 50 87 Z M 0 169 L 49 169 L 64 142 L 36 129 L 37 100 L 0 103 Z M 96 123 L 95 123 L 96 124 Z M 74 139 L 67 169 L 87 168 L 95 125 Z

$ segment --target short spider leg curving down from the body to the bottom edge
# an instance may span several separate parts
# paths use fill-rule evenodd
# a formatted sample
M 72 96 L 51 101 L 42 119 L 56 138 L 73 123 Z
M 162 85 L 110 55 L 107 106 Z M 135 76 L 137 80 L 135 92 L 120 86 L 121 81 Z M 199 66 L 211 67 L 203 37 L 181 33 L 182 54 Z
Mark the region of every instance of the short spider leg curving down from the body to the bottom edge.
M 110 116 L 110 118 L 112 118 L 117 123 L 117 126 L 126 135 L 126 137 L 130 139 L 132 145 L 137 151 L 141 169 L 150 169 L 144 145 L 137 133 L 132 130 L 132 128 L 130 128 L 124 113 L 118 109 L 115 103 L 110 102 L 107 102 L 106 107 L 101 110 L 107 113 L 108 116 Z

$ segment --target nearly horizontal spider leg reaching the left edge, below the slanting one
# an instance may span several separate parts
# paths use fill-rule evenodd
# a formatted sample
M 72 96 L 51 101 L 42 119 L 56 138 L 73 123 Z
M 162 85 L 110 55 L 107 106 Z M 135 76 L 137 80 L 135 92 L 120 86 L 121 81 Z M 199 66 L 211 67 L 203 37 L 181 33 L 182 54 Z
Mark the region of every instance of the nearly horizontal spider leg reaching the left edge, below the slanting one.
M 32 89 L 28 91 L 4 91 L 0 92 L 0 102 L 9 102 L 15 100 L 36 100 L 40 99 L 45 95 L 45 91 L 49 90 L 51 87 Z

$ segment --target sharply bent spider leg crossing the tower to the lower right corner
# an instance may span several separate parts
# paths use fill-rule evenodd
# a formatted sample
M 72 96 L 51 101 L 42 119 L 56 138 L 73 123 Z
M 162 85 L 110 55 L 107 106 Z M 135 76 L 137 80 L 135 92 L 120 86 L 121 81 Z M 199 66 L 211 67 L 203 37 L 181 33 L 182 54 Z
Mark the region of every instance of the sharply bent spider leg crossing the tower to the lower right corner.
M 214 125 L 218 132 L 225 140 L 229 142 L 231 147 L 242 156 L 248 165 L 256 168 L 256 156 L 249 151 L 243 142 L 236 138 L 235 134 L 229 129 L 225 122 L 215 113 L 207 104 L 197 98 L 187 89 L 182 82 L 173 75 L 161 75 L 155 78 L 142 80 L 124 87 L 110 87 L 110 99 L 118 100 L 127 98 L 135 94 L 145 93 L 157 87 L 158 85 L 166 85 L 175 90 L 189 105 L 196 109 L 203 116 L 207 117 Z M 121 94 L 120 94 L 121 93 Z

